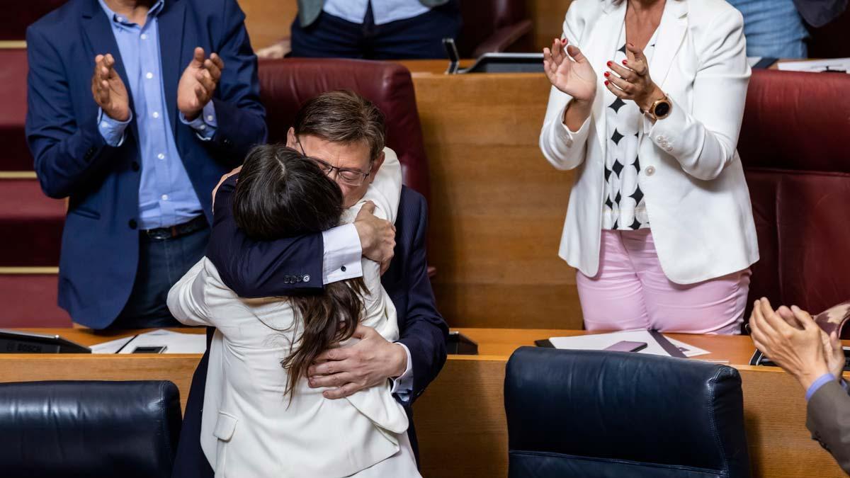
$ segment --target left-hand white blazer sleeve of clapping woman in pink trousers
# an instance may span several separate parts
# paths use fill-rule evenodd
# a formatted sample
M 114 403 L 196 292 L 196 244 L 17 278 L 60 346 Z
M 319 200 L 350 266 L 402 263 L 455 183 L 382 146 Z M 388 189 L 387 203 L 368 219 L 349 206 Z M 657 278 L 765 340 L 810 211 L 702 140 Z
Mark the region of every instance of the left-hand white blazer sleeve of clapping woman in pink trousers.
M 562 37 L 572 44 L 579 41 L 584 28 L 583 22 L 577 18 L 575 11 L 577 11 L 575 7 L 567 10 Z M 581 45 L 575 44 L 575 46 L 581 48 Z M 547 161 L 558 169 L 576 168 L 584 162 L 590 122 L 594 121 L 591 115 L 578 131 L 570 131 L 570 128 L 564 124 L 564 111 L 567 110 L 571 100 L 572 97 L 569 94 L 552 87 L 549 92 L 546 117 L 540 132 L 540 149 L 543 151 L 543 156 L 546 156 Z

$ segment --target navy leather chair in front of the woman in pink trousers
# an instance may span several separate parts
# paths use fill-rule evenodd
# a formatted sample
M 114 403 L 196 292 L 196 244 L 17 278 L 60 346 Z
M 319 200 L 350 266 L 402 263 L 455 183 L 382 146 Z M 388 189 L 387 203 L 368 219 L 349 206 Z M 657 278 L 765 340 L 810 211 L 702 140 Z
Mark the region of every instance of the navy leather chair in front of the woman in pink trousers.
M 507 362 L 505 408 L 510 478 L 750 476 L 732 367 L 523 347 Z

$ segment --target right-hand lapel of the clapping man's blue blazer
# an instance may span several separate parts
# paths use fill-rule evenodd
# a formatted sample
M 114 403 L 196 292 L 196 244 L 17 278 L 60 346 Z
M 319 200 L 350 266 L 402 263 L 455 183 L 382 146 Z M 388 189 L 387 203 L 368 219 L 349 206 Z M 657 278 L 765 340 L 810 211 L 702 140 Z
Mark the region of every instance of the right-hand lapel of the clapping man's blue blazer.
M 162 12 L 157 17 L 159 30 L 160 57 L 162 61 L 162 83 L 165 89 L 165 101 L 172 134 L 177 139 L 177 85 L 180 75 L 190 57 L 184 55 L 183 34 L 186 16 L 185 2 L 166 0 Z M 209 54 L 209 52 L 206 52 Z

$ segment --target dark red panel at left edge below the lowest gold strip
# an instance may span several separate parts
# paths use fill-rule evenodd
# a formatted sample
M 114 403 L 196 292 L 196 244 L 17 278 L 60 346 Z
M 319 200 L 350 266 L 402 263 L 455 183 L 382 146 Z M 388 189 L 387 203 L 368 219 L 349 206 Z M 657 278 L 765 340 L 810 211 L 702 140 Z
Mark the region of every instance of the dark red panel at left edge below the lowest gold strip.
M 0 328 L 71 327 L 71 316 L 56 304 L 55 274 L 0 275 Z

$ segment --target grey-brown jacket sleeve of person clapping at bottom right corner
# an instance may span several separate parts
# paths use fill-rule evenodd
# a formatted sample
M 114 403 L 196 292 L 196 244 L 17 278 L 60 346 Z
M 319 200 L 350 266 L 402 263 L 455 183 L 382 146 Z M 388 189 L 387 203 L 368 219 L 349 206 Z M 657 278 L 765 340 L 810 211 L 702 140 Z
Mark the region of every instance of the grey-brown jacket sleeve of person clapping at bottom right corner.
M 850 474 L 850 395 L 838 382 L 814 392 L 806 409 L 806 426 L 812 438 Z

